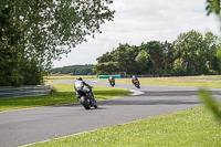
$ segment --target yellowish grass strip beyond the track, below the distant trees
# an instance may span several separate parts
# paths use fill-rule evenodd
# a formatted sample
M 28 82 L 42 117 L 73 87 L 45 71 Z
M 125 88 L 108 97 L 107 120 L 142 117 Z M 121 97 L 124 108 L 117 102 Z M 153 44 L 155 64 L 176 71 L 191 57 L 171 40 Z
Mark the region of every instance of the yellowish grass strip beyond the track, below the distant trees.
M 180 77 L 155 77 L 139 78 L 143 85 L 168 85 L 168 86 L 193 86 L 221 88 L 221 75 L 201 75 L 201 76 L 180 76 Z M 106 82 L 106 81 L 102 81 Z M 131 80 L 116 80 L 117 83 L 131 84 Z

